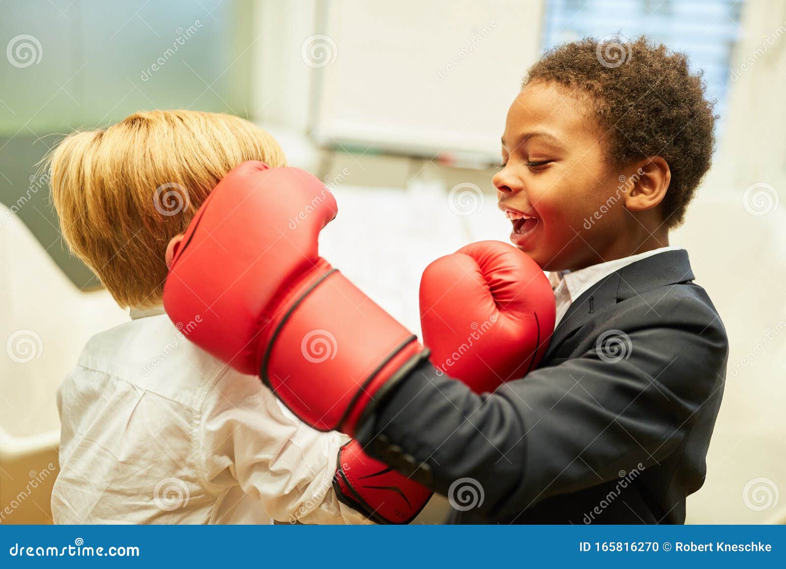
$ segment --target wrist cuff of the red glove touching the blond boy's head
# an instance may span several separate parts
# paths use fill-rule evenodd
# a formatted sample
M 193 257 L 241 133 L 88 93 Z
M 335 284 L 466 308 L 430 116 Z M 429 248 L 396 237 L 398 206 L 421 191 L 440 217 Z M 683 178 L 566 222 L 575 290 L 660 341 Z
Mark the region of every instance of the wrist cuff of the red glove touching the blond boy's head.
M 327 263 L 293 289 L 269 312 L 259 375 L 312 427 L 354 434 L 377 390 L 428 352 Z

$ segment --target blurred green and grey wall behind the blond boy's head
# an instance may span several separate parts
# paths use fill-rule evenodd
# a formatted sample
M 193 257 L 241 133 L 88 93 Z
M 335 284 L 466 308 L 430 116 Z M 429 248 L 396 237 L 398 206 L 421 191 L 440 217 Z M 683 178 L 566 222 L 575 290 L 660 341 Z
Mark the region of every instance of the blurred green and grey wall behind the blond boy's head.
M 251 0 L 3 3 L 0 203 L 77 286 L 98 283 L 61 242 L 39 161 L 61 135 L 138 109 L 247 116 L 253 9 Z

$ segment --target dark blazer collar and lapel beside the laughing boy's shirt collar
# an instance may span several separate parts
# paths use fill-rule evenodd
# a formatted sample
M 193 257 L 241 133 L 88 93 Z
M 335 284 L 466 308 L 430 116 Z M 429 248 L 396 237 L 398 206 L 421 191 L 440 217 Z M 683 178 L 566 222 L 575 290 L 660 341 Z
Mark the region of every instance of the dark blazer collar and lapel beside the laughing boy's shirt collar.
M 556 325 L 541 366 L 548 364 L 560 348 L 582 326 L 619 301 L 662 286 L 694 279 L 685 249 L 665 251 L 637 260 L 590 286 L 568 307 Z M 664 291 L 663 294 L 667 294 Z

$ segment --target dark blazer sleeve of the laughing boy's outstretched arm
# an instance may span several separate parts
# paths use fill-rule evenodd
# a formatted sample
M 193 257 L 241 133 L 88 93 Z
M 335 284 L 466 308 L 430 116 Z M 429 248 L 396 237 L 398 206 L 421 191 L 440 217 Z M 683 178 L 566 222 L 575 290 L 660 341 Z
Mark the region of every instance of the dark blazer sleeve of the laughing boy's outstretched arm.
M 659 316 L 647 320 L 645 310 L 615 311 L 586 334 L 580 357 L 495 393 L 476 395 L 424 364 L 358 439 L 399 470 L 403 453 L 420 465 L 415 478 L 439 493 L 474 478 L 484 493 L 480 513 L 491 517 L 656 464 L 708 399 L 721 397 L 728 344 L 711 307 L 673 298 L 658 305 Z

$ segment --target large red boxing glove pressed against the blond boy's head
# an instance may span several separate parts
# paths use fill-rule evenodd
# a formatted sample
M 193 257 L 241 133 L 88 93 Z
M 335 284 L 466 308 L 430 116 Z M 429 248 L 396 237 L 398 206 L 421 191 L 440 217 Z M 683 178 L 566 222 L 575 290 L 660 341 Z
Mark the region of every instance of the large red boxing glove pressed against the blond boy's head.
M 189 340 L 259 374 L 300 419 L 354 434 L 378 390 L 428 351 L 319 257 L 336 212 L 307 172 L 244 162 L 171 244 L 163 304 Z

